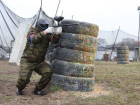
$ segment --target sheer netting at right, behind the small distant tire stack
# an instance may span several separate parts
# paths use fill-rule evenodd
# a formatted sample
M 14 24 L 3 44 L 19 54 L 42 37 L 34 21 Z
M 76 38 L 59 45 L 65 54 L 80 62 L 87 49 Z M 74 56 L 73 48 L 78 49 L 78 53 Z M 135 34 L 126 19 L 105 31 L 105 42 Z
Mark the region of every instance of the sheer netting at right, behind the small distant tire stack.
M 109 54 L 109 59 L 117 57 L 117 48 L 125 43 L 130 50 L 129 58 L 135 59 L 134 49 L 138 47 L 138 37 L 124 32 L 121 29 L 115 31 L 100 31 L 98 36 L 98 48 L 96 60 L 104 60 L 104 54 Z

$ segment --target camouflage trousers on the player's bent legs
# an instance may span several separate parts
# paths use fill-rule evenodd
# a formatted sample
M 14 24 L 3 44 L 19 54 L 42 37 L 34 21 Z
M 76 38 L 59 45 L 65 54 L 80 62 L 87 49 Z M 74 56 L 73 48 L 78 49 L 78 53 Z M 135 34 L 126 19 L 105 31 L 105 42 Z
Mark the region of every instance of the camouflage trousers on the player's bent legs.
M 45 61 L 41 63 L 33 63 L 28 61 L 27 58 L 21 58 L 19 78 L 16 85 L 18 89 L 23 90 L 26 87 L 30 82 L 30 77 L 33 71 L 42 76 L 36 85 L 37 89 L 42 90 L 50 82 L 52 71 Z

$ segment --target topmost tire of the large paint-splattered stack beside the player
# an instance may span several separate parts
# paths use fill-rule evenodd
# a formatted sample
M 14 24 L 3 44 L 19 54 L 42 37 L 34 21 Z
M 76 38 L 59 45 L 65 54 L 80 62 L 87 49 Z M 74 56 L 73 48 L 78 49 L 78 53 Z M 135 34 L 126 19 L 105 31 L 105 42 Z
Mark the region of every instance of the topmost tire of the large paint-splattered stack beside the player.
M 61 26 L 63 32 L 66 33 L 84 34 L 97 37 L 99 32 L 99 27 L 97 25 L 75 20 L 63 20 L 61 21 Z

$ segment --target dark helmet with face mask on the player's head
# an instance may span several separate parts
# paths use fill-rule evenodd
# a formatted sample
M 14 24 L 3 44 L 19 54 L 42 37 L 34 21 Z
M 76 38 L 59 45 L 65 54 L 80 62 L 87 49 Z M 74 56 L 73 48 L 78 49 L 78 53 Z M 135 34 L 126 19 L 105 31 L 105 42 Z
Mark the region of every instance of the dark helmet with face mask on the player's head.
M 36 26 L 39 28 L 40 31 L 44 31 L 48 28 L 49 24 L 44 19 L 39 19 Z

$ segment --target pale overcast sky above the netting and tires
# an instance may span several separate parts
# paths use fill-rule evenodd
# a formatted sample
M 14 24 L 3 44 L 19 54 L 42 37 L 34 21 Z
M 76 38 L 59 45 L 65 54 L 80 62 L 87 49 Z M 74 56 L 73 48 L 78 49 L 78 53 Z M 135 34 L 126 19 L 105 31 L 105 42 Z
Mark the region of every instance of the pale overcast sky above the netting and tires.
M 2 0 L 17 15 L 33 17 L 41 0 Z M 54 17 L 59 0 L 43 0 L 43 10 Z M 58 15 L 65 19 L 97 24 L 100 30 L 112 31 L 120 28 L 138 35 L 140 0 L 61 0 Z

